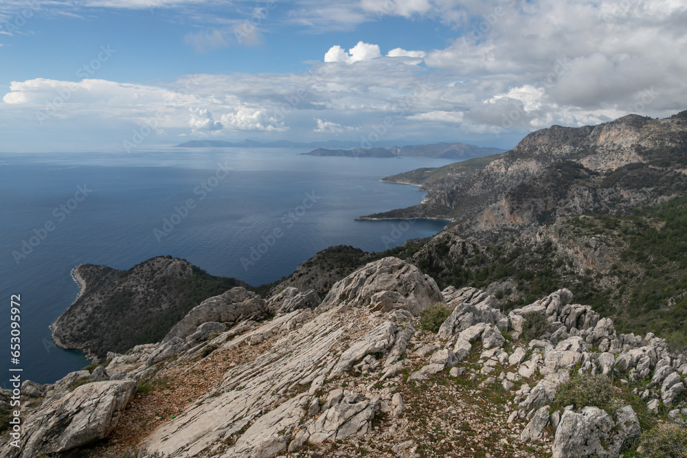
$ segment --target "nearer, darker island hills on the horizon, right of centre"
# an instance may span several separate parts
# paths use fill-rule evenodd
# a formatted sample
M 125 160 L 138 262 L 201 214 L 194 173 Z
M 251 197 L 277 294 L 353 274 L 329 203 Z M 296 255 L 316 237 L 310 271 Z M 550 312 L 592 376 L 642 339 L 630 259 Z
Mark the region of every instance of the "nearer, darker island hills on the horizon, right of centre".
M 501 148 L 481 148 L 464 143 L 435 143 L 429 145 L 392 146 L 391 148 L 354 148 L 352 150 L 327 150 L 317 148 L 302 154 L 308 156 L 346 157 L 433 157 L 436 159 L 471 159 L 473 157 L 501 154 Z

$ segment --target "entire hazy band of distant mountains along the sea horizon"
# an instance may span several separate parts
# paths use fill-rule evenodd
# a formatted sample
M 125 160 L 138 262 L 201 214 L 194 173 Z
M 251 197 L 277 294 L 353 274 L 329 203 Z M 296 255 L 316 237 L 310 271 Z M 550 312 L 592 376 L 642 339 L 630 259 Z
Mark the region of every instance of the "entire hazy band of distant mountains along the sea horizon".
M 308 156 L 339 156 L 339 157 L 433 157 L 437 159 L 471 159 L 489 154 L 501 154 L 506 150 L 501 148 L 481 148 L 480 146 L 464 143 L 436 143 L 428 145 L 392 146 L 389 148 L 356 148 L 359 141 L 312 141 L 300 143 L 297 141 L 278 140 L 260 143 L 255 140 L 221 141 L 221 140 L 192 140 L 177 145 L 179 148 L 315 148 L 311 152 L 302 154 Z

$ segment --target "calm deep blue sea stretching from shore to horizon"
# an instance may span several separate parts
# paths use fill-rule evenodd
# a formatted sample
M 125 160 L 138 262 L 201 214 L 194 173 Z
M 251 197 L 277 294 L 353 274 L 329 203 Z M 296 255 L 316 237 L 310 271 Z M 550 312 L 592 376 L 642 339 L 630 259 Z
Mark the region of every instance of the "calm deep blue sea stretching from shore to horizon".
M 453 161 L 310 157 L 297 148 L 0 153 L 0 385 L 10 367 L 49 383 L 89 364 L 49 325 L 76 299 L 76 264 L 128 269 L 157 255 L 258 286 L 337 244 L 383 251 L 446 222 L 355 221 L 416 205 L 390 174 Z M 10 297 L 21 295 L 21 356 L 10 360 Z M 145 323 L 141 323 L 145 325 Z M 16 334 L 16 331 L 15 331 Z

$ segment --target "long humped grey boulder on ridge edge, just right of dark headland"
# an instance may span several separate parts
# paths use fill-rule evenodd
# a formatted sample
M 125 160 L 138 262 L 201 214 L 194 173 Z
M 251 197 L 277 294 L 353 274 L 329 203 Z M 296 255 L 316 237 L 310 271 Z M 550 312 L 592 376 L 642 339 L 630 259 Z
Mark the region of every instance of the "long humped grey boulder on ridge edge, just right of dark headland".
M 167 333 L 163 342 L 174 337 L 185 339 L 198 329 L 199 325 L 209 321 L 218 321 L 232 326 L 243 319 L 262 319 L 267 317 L 267 304 L 252 291 L 236 286 L 221 295 L 205 299 L 195 306 L 185 317 L 175 324 Z

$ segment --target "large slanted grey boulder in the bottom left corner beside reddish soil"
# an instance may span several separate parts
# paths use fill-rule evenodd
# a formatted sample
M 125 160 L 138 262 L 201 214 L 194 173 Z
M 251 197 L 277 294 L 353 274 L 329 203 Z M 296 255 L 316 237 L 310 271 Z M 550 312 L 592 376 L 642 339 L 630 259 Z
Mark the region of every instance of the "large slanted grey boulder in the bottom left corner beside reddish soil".
M 23 425 L 20 447 L 5 446 L 2 455 L 34 458 L 104 439 L 137 387 L 135 380 L 94 382 L 45 402 Z

